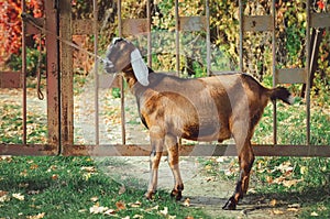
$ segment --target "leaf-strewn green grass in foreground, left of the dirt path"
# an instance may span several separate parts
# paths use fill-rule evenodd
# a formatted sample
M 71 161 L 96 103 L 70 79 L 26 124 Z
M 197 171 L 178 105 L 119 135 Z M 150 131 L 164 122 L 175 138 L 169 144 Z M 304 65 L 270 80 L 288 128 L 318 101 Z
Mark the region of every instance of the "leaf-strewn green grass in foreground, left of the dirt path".
M 44 218 L 109 218 L 90 212 L 97 206 L 112 209 L 114 218 L 206 218 L 200 210 L 173 200 L 167 191 L 158 191 L 148 201 L 144 190 L 127 187 L 120 191 L 122 186 L 95 168 L 90 157 L 2 157 L 0 218 L 40 213 Z

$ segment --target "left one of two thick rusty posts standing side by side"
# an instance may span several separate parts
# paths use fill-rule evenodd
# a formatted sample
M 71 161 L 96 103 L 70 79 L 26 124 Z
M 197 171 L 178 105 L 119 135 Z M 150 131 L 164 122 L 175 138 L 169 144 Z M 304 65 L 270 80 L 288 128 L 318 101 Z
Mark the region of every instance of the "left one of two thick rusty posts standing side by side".
M 58 17 L 57 6 L 53 1 L 44 1 L 46 23 L 47 51 L 47 127 L 48 145 L 51 150 L 58 150 L 61 144 L 59 116 L 59 66 L 58 66 Z M 59 153 L 59 151 L 57 151 Z

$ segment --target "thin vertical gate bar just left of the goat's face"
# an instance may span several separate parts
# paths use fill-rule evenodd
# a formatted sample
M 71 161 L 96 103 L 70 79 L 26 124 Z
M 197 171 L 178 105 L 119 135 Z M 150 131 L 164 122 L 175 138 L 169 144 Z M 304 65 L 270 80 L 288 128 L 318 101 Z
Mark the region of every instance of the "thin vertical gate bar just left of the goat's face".
M 99 74 L 98 74 L 98 2 L 92 0 L 92 11 L 94 11 L 94 79 L 95 79 L 95 143 L 100 144 L 100 128 L 99 128 Z

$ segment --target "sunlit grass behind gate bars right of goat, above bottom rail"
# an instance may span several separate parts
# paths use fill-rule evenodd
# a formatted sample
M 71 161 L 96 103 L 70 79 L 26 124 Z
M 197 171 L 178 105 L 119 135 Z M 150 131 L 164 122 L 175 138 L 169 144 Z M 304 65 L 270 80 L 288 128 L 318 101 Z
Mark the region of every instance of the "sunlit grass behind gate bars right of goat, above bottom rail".
M 310 110 L 311 145 L 330 145 L 329 108 L 312 106 Z M 306 106 L 295 103 L 286 106 L 277 103 L 277 143 L 306 144 Z M 265 108 L 261 122 L 257 124 L 252 142 L 270 144 L 273 142 L 273 105 Z

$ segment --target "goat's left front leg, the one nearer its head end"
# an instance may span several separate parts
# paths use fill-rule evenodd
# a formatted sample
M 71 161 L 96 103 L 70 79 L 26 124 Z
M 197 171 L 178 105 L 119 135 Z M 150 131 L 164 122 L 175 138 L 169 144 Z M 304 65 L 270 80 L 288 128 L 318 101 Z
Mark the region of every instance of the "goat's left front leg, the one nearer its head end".
M 152 199 L 157 189 L 158 166 L 163 153 L 163 139 L 154 139 L 151 136 L 152 152 L 150 155 L 150 182 L 145 197 Z

